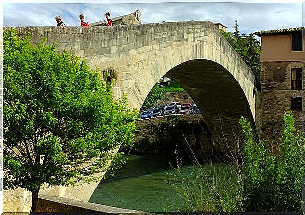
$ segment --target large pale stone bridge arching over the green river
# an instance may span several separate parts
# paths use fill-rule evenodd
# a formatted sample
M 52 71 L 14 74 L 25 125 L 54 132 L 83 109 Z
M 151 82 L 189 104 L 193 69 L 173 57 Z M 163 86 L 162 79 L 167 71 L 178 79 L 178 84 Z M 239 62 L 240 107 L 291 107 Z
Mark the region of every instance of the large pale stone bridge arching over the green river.
M 13 28 L 21 34 L 30 31 L 34 44 L 46 37 L 59 52 L 73 51 L 92 68 L 112 66 L 118 74 L 114 97 L 126 93 L 131 108 L 140 109 L 151 88 L 166 75 L 197 104 L 216 148 L 240 139 L 241 116 L 259 131 L 254 74 L 210 21 Z

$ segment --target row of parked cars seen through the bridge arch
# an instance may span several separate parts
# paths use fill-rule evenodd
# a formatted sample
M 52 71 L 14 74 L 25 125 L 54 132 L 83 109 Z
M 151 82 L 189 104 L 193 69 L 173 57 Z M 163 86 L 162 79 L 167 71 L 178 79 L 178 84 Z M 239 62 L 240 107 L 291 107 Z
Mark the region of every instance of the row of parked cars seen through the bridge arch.
M 149 117 L 163 116 L 169 114 L 178 113 L 198 113 L 201 114 L 200 110 L 197 108 L 196 104 L 172 102 L 169 105 L 163 104 L 158 108 L 150 108 L 145 111 L 141 111 L 140 119 L 145 119 Z

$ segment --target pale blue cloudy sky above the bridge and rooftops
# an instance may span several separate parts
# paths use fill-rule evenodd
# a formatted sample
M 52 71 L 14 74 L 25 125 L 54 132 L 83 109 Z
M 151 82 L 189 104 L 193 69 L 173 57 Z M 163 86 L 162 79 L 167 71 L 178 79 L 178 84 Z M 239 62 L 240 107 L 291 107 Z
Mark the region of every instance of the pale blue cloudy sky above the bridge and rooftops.
M 152 1 L 149 0 L 108 0 L 108 4 L 104 4 L 100 3 L 101 0 L 66 0 L 67 3 L 60 3 L 63 1 L 58 0 L 7 0 L 3 3 L 3 26 L 56 26 L 55 16 L 58 14 L 67 26 L 79 26 L 78 16 L 81 13 L 89 23 L 93 23 L 104 20 L 107 11 L 111 13 L 111 17 L 116 17 L 137 9 L 141 11 L 142 23 L 210 20 L 220 22 L 228 27 L 228 31 L 233 31 L 232 27 L 237 19 L 240 32 L 247 34 L 260 30 L 305 26 L 305 1 L 302 0 L 202 1 L 205 0 L 153 1 L 158 3 L 150 3 Z M 247 3 L 240 3 L 241 1 Z

